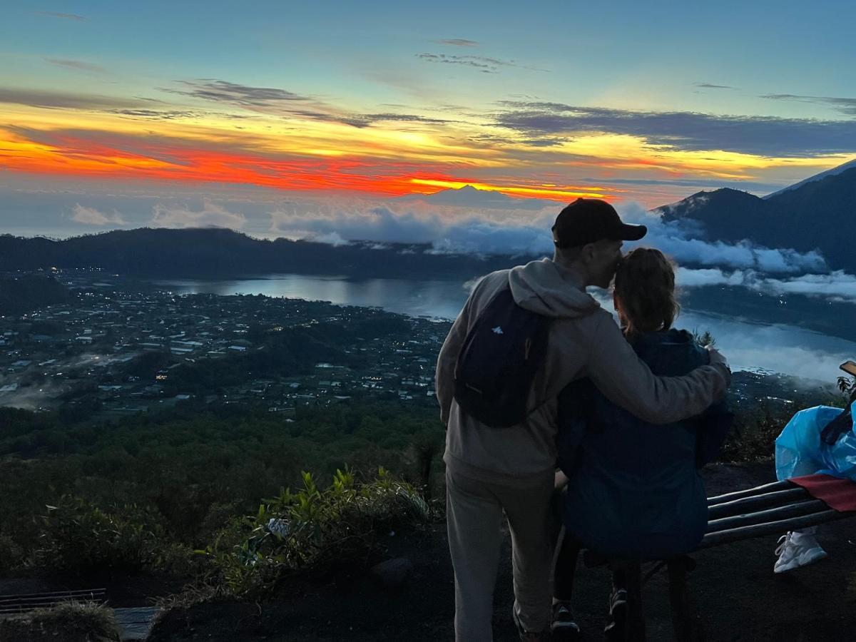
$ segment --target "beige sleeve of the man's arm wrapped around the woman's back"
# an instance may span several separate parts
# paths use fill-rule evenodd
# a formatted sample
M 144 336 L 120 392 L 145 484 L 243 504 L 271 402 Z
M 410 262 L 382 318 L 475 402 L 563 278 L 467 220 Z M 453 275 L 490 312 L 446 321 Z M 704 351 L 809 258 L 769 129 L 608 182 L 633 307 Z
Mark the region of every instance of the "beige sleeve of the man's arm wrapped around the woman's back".
M 684 377 L 655 377 L 608 315 L 597 324 L 585 374 L 609 401 L 651 424 L 703 413 L 731 383 L 724 360 Z

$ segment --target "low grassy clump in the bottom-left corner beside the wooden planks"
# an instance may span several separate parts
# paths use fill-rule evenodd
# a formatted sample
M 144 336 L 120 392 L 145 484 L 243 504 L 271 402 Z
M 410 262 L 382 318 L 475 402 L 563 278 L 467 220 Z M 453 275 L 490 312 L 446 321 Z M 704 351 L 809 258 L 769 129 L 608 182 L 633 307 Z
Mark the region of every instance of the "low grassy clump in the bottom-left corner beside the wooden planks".
M 0 642 L 119 642 L 113 611 L 92 602 L 66 602 L 53 609 L 0 620 Z

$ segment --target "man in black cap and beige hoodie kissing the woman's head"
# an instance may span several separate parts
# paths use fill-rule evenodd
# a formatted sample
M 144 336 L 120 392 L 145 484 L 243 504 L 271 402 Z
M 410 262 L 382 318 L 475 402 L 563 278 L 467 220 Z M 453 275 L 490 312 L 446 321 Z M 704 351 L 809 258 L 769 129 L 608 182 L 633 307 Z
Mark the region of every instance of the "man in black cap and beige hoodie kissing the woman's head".
M 556 217 L 552 260 L 485 276 L 473 289 L 437 360 L 437 399 L 447 425 L 446 502 L 455 568 L 455 639 L 492 639 L 493 590 L 508 517 L 514 566 L 514 622 L 521 640 L 546 639 L 550 624 L 550 494 L 556 469 L 556 396 L 589 377 L 610 401 L 654 423 L 699 414 L 730 383 L 728 365 L 711 350 L 710 366 L 686 377 L 654 377 L 615 320 L 586 294 L 609 286 L 621 241 L 645 235 L 621 222 L 612 205 L 577 199 Z M 552 319 L 544 364 L 529 391 L 526 419 L 510 428 L 480 423 L 454 398 L 455 364 L 467 331 L 504 288 L 518 306 Z

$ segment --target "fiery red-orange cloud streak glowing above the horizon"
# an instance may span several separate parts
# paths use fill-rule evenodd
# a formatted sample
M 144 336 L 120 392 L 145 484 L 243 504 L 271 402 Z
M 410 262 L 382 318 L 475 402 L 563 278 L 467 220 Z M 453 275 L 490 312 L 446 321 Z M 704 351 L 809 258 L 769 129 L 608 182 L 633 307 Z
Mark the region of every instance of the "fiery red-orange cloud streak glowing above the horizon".
M 217 151 L 187 146 L 183 140 L 175 145 L 158 145 L 137 137 L 108 136 L 108 142 L 56 132 L 41 137 L 45 140 L 30 140 L 20 133 L 7 133 L 6 137 L 2 134 L 0 130 L 0 167 L 43 175 L 250 184 L 385 196 L 434 193 L 464 185 L 520 198 L 611 196 L 602 187 L 552 184 L 541 187 L 512 181 L 496 185 L 475 177 L 452 175 L 449 166 L 442 164 L 383 162 L 355 156 L 271 156 Z

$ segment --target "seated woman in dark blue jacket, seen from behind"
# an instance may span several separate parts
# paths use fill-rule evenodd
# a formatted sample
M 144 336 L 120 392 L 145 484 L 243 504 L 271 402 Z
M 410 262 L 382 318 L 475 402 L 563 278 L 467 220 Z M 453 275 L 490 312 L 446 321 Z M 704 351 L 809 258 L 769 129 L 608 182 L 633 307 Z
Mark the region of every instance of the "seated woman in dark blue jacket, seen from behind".
M 655 375 L 680 376 L 707 363 L 704 348 L 672 323 L 675 268 L 658 250 L 628 253 L 615 274 L 615 311 L 639 358 Z M 651 425 L 615 406 L 589 380 L 559 397 L 559 466 L 568 477 L 562 495 L 566 537 L 556 563 L 555 639 L 574 639 L 570 610 L 580 548 L 624 559 L 662 559 L 694 550 L 707 526 L 707 498 L 698 468 L 728 433 L 724 403 L 703 416 Z M 626 608 L 623 578 L 615 575 L 613 621 Z

